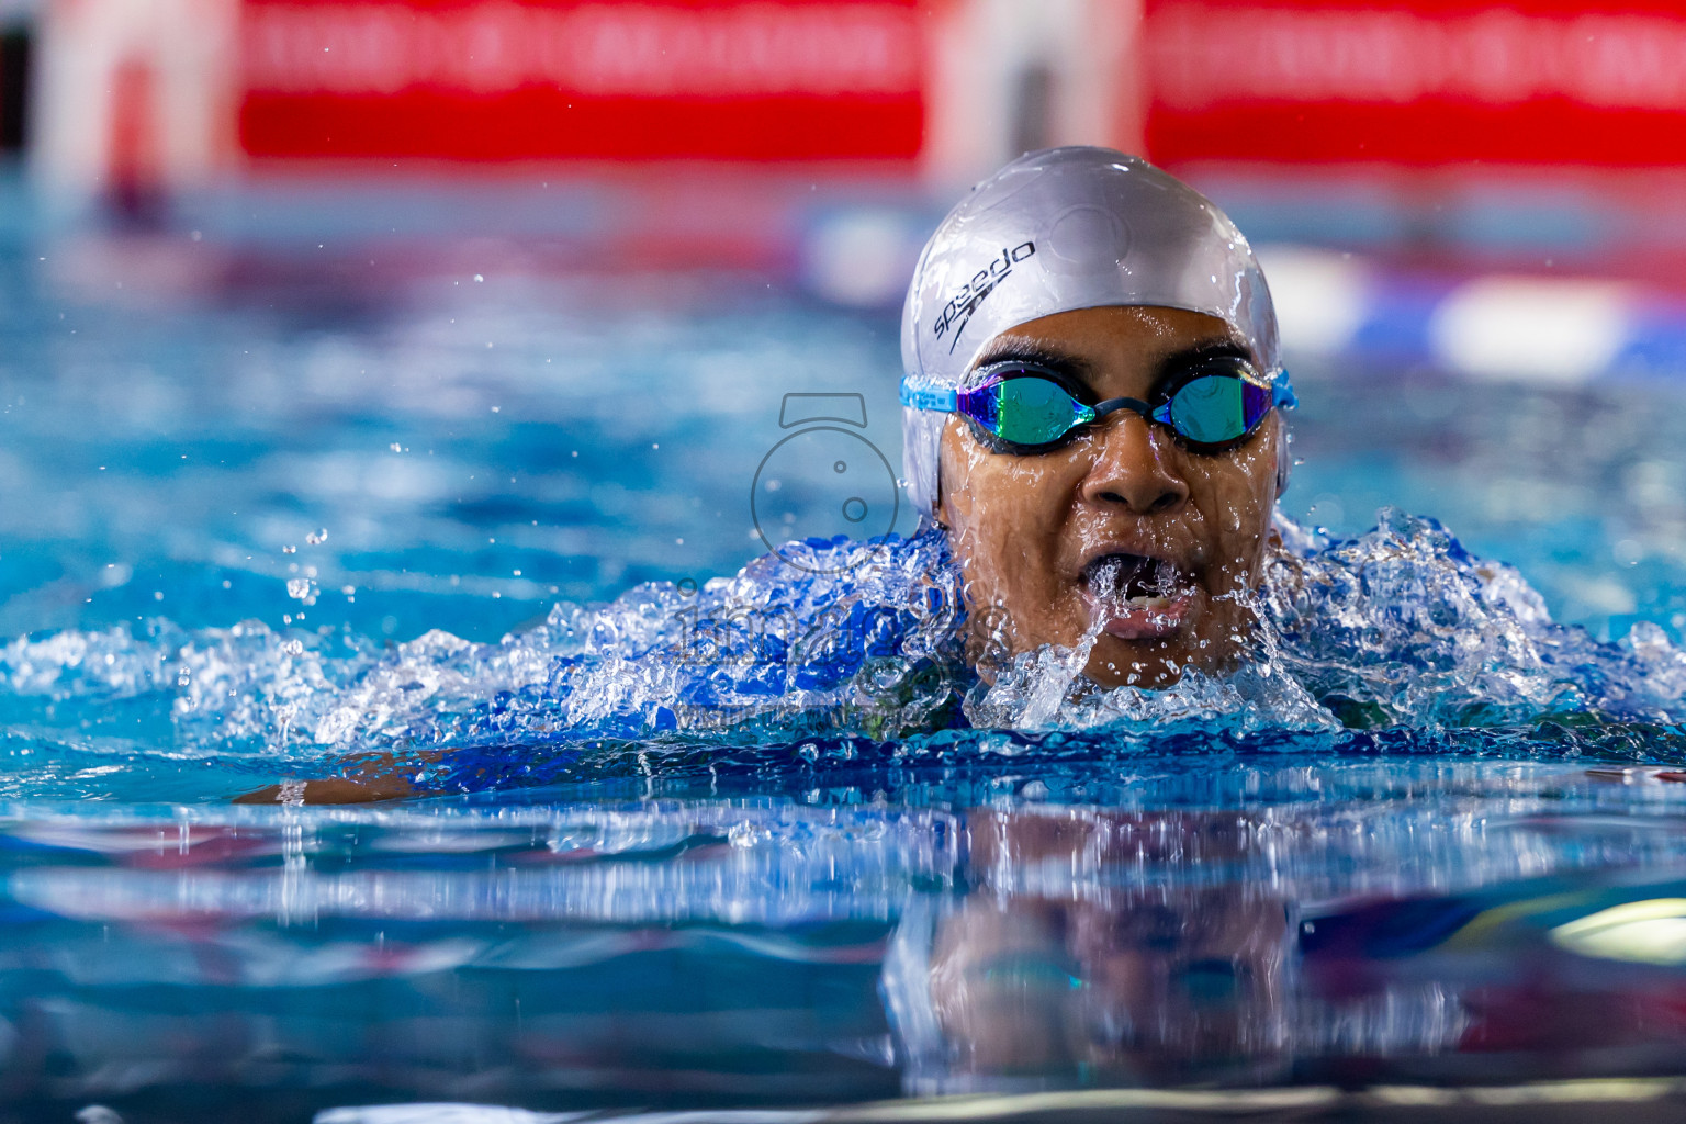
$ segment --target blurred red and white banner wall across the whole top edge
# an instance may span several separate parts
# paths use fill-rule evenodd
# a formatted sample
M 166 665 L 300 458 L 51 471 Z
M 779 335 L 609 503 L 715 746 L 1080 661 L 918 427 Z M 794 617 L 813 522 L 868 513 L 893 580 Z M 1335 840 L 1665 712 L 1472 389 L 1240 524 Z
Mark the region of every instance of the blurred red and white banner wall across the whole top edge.
M 57 185 L 297 162 L 1661 167 L 1667 0 L 7 0 L 5 143 Z M 142 167 L 147 163 L 148 167 Z

